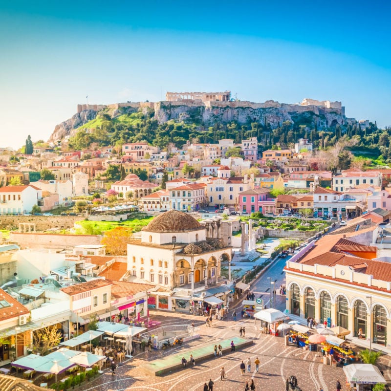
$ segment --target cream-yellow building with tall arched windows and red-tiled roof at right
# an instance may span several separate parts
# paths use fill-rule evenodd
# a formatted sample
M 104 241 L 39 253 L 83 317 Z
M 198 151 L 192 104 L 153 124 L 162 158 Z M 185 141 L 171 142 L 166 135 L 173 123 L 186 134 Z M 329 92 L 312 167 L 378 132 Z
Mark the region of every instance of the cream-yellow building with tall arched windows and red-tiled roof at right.
M 376 236 L 376 226 L 328 235 L 287 261 L 287 312 L 390 346 L 391 263 L 374 260 Z

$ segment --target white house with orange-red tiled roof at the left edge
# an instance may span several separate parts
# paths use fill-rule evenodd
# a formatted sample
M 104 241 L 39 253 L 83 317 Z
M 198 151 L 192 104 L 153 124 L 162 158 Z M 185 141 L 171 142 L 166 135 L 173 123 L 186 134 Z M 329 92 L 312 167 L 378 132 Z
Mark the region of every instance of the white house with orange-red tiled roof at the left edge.
M 0 214 L 31 212 L 34 205 L 43 206 L 42 190 L 32 185 L 0 187 Z

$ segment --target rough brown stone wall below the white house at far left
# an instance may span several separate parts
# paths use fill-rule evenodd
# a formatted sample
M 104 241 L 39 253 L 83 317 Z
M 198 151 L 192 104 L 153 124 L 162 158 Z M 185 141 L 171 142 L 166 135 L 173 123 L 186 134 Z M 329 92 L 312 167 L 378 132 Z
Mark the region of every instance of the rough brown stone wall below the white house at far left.
M 47 231 L 50 228 L 73 228 L 81 216 L 0 216 L 1 229 L 18 229 L 19 223 L 36 224 L 36 231 Z

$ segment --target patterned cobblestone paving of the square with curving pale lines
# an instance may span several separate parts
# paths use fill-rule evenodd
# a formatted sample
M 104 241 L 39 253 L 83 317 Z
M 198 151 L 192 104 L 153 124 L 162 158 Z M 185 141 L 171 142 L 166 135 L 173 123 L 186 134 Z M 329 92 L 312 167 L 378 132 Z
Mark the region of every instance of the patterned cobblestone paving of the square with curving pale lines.
M 152 311 L 151 311 L 152 313 Z M 310 352 L 295 347 L 285 347 L 282 338 L 261 334 L 260 324 L 254 320 L 234 322 L 231 319 L 213 321 L 212 327 L 204 325 L 204 318 L 185 314 L 167 314 L 165 316 L 152 313 L 152 319 L 156 319 L 162 325 L 168 324 L 191 324 L 199 326 L 200 339 L 184 343 L 177 348 L 165 351 L 135 352 L 132 362 L 125 361 L 119 366 L 115 375 L 111 375 L 109 369 L 105 369 L 103 375 L 88 383 L 81 390 L 84 391 L 122 391 L 122 390 L 153 390 L 153 391 L 196 391 L 202 390 L 204 382 L 212 379 L 215 382 L 214 390 L 240 391 L 244 389 L 245 381 L 254 379 L 256 390 L 274 391 L 285 390 L 285 379 L 289 375 L 298 378 L 298 385 L 303 391 L 318 391 L 320 387 L 324 391 L 335 390 L 336 380 L 341 384 L 345 382 L 345 376 L 341 368 L 323 365 L 321 357 L 316 352 Z M 225 354 L 221 358 L 211 359 L 197 363 L 193 368 L 176 370 L 171 374 L 161 377 L 148 375 L 143 370 L 145 360 L 162 358 L 168 354 L 183 352 L 186 354 L 189 348 L 201 345 L 212 345 L 219 340 L 239 336 L 240 326 L 246 328 L 246 338 L 252 339 L 254 345 L 238 350 L 234 353 Z M 255 372 L 254 360 L 261 360 L 259 373 Z M 250 357 L 252 361 L 251 373 L 240 374 L 239 365 Z M 224 367 L 226 379 L 221 381 L 219 369 Z

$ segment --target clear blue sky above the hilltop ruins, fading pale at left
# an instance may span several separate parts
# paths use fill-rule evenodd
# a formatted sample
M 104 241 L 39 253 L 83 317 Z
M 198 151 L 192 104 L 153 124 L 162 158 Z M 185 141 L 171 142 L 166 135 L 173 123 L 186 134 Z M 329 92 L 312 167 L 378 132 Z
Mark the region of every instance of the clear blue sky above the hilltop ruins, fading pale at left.
M 391 2 L 0 1 L 0 147 L 167 91 L 342 101 L 391 126 Z M 88 96 L 88 98 L 86 98 Z

